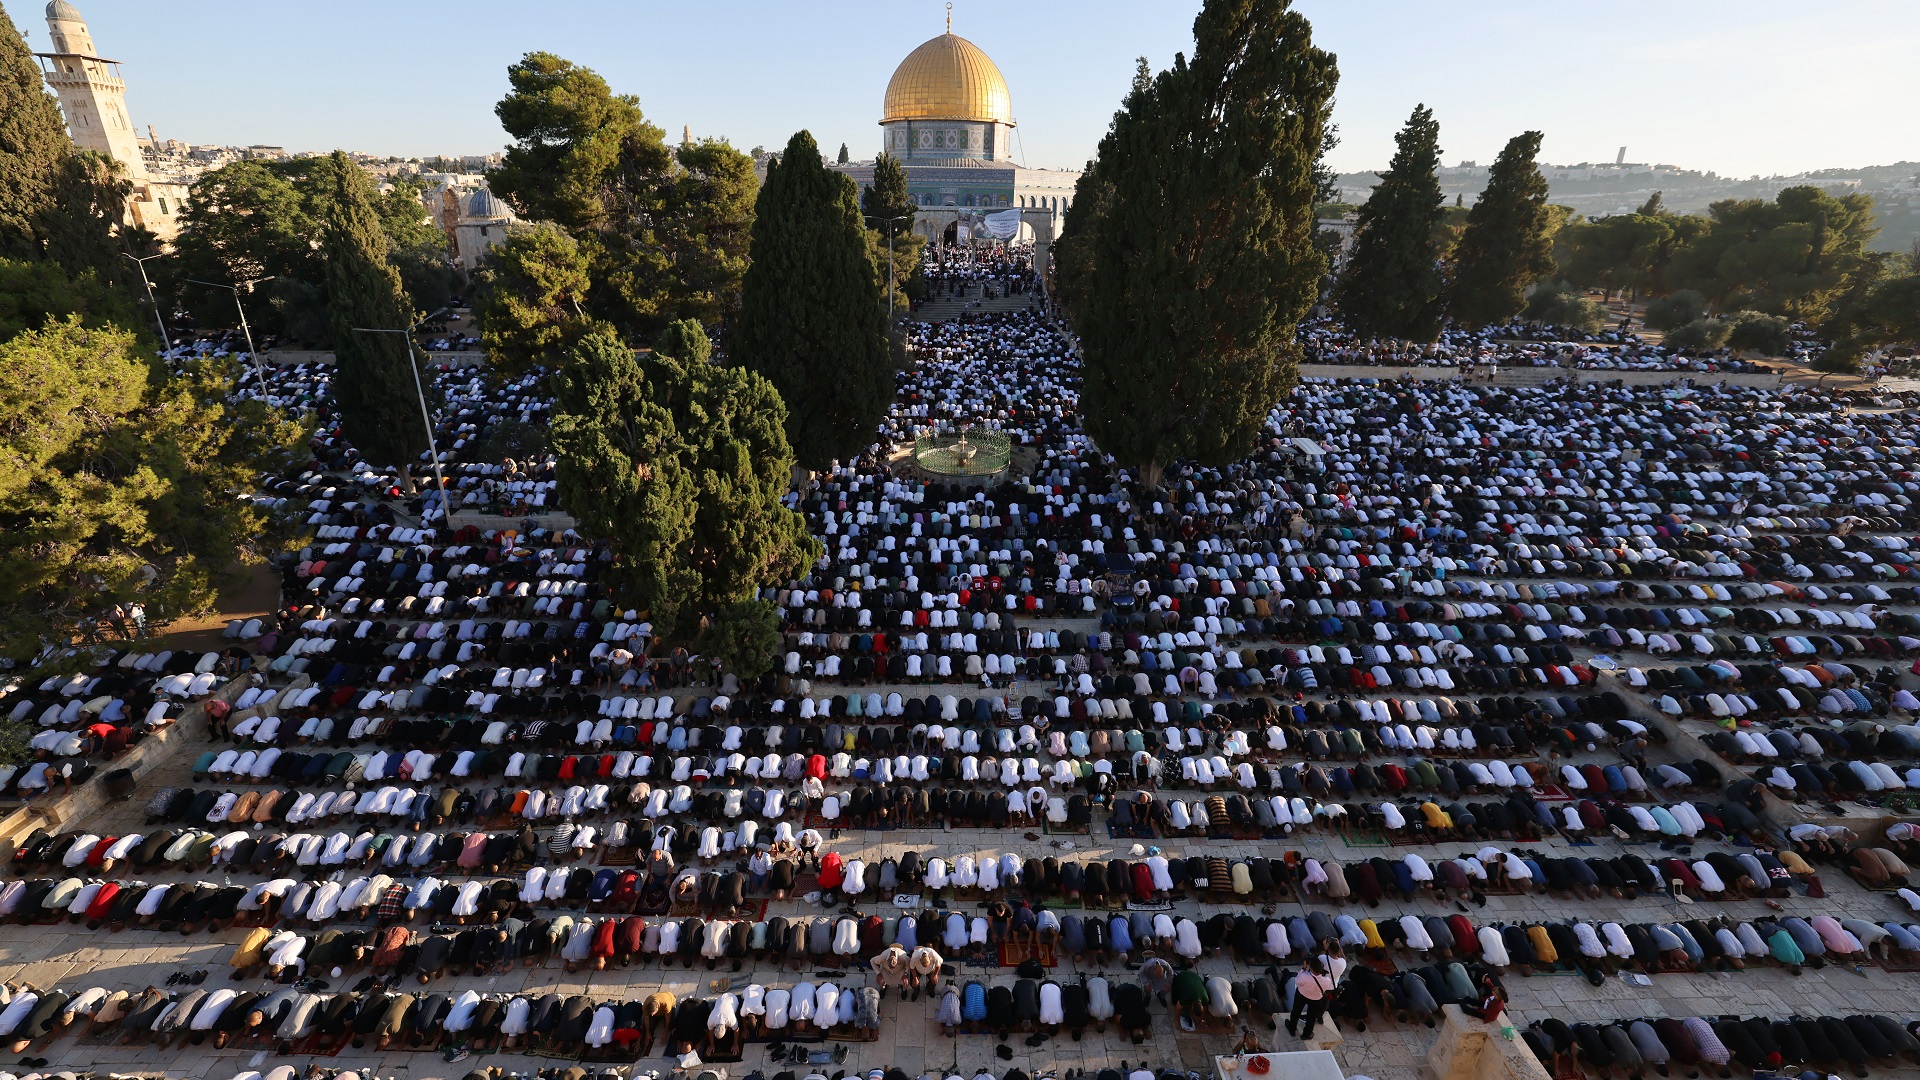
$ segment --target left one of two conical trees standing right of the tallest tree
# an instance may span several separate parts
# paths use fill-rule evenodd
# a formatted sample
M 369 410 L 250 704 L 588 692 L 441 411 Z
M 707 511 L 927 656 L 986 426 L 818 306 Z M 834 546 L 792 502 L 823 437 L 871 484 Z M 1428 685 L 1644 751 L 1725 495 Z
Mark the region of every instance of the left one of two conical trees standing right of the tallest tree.
M 1334 286 L 1348 329 L 1369 338 L 1440 336 L 1440 125 L 1415 106 L 1394 136 L 1394 160 L 1354 221 L 1354 254 Z

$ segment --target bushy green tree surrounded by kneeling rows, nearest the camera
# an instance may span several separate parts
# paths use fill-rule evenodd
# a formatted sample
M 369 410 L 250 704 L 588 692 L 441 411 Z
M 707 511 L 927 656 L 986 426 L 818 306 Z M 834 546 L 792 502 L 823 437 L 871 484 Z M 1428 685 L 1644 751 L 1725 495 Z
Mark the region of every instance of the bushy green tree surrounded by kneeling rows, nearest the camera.
M 662 346 L 707 350 L 697 323 Z M 818 557 L 781 498 L 793 469 L 780 396 L 739 367 L 637 354 L 609 329 L 586 334 L 555 377 L 561 498 L 612 538 L 620 596 L 662 632 L 693 636 L 703 611 L 755 600 Z

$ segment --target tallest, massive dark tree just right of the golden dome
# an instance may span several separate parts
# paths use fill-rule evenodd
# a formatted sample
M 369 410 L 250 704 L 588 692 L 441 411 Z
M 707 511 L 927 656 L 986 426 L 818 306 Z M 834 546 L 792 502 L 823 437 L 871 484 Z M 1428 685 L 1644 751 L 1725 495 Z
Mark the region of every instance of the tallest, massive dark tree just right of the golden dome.
M 1087 429 L 1148 482 L 1250 450 L 1327 267 L 1313 198 L 1334 58 L 1286 0 L 1210 0 L 1194 40 L 1190 63 L 1140 61 L 1056 248 Z

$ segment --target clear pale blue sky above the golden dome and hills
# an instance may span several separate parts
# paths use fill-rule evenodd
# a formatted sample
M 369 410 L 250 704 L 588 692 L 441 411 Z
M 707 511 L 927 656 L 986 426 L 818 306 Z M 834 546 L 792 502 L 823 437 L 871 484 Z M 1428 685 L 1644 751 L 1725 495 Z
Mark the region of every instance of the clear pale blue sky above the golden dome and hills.
M 290 150 L 478 154 L 530 50 L 593 67 L 678 138 L 829 154 L 879 144 L 893 67 L 941 0 L 73 0 L 161 138 Z M 1667 161 L 1722 175 L 1920 160 L 1920 0 L 1296 0 L 1340 58 L 1338 169 L 1384 165 L 1415 102 L 1446 163 L 1546 131 L 1555 163 Z M 8 13 L 50 48 L 40 0 Z M 954 33 L 1000 65 L 1025 163 L 1079 167 L 1137 56 L 1192 48 L 1196 0 L 958 0 Z

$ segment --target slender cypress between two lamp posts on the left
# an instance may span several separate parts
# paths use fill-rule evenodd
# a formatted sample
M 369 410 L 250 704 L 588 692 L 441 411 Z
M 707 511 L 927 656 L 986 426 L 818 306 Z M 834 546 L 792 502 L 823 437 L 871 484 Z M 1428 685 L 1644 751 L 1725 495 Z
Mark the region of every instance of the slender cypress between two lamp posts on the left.
M 334 336 L 332 398 L 348 440 L 380 465 L 411 469 L 426 452 L 420 404 L 407 342 L 399 334 L 363 334 L 355 327 L 407 331 L 413 311 L 388 261 L 386 233 L 367 173 L 334 150 L 324 165 L 326 307 Z M 411 477 L 411 473 L 409 473 Z

